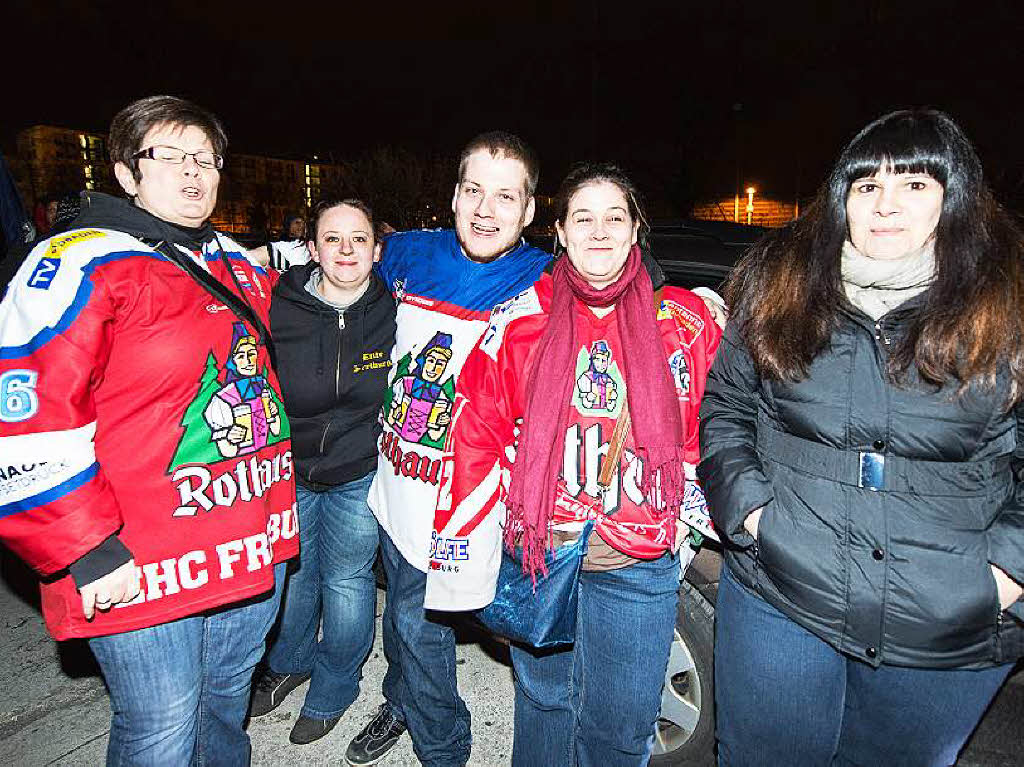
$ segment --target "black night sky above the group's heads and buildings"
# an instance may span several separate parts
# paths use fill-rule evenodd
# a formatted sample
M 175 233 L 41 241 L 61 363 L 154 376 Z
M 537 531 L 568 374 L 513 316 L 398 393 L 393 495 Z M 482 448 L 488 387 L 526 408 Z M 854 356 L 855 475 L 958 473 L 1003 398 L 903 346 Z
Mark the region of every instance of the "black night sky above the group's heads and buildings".
M 792 199 L 866 122 L 927 104 L 961 122 L 1000 198 L 1024 209 L 1019 8 L 7 0 L 0 145 L 37 123 L 105 130 L 131 99 L 166 92 L 220 115 L 240 152 L 454 155 L 505 128 L 538 148 L 545 191 L 599 158 L 649 198 L 728 195 L 738 165 L 742 184 Z

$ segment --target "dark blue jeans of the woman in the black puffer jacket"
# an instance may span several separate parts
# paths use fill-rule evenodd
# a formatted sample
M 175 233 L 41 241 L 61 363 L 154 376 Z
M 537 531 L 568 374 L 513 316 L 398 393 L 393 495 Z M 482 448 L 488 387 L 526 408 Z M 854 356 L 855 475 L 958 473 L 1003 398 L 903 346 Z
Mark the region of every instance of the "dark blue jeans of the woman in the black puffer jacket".
M 947 767 L 1013 666 L 874 669 L 805 631 L 728 565 L 715 623 L 722 767 Z

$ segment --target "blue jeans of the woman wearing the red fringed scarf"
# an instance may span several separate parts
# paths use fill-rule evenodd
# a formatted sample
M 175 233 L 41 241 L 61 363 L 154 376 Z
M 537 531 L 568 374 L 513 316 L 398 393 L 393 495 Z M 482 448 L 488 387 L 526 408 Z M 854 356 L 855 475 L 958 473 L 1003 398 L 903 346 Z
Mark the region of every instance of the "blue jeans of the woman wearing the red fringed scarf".
M 512 645 L 513 767 L 647 764 L 678 599 L 675 555 L 581 574 L 575 643 Z

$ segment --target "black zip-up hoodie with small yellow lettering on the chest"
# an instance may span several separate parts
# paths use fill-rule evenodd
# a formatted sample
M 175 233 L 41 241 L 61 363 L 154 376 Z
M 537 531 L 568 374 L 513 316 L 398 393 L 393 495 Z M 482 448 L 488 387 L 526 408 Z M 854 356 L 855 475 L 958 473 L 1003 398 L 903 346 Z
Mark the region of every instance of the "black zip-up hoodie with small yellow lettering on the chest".
M 306 290 L 317 264 L 286 271 L 273 291 L 270 333 L 296 479 L 312 489 L 366 476 L 377 466 L 377 415 L 394 345 L 395 305 L 384 283 L 340 314 Z

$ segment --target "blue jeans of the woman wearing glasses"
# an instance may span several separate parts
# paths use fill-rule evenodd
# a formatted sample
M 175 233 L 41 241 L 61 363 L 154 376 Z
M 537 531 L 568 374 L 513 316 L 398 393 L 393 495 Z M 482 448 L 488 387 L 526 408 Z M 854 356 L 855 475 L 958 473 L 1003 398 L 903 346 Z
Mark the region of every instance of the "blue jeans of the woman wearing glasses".
M 108 767 L 249 764 L 242 725 L 284 576 L 275 565 L 269 594 L 89 640 L 111 691 Z

